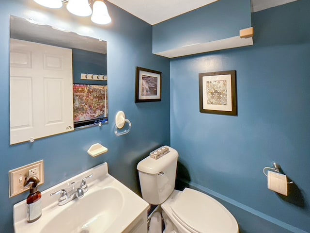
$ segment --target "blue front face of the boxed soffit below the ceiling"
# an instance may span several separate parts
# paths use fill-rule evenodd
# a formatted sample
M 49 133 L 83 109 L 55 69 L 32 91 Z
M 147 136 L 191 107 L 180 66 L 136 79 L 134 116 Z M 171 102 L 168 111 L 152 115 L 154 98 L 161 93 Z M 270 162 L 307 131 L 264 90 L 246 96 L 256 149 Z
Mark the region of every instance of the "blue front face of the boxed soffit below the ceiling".
M 153 52 L 239 36 L 251 27 L 250 0 L 220 0 L 153 26 Z

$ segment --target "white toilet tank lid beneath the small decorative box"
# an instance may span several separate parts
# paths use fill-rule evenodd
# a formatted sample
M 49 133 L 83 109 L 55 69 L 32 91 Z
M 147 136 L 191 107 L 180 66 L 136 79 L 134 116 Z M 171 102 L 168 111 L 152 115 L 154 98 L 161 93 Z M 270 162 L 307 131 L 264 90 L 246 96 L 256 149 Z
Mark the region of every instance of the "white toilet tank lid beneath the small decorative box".
M 145 159 L 141 160 L 137 166 L 137 169 L 141 172 L 148 174 L 157 174 L 163 171 L 167 166 L 169 166 L 174 160 L 179 156 L 178 151 L 174 150 L 169 146 L 165 146 L 169 149 L 169 152 L 159 159 L 153 159 L 147 156 Z

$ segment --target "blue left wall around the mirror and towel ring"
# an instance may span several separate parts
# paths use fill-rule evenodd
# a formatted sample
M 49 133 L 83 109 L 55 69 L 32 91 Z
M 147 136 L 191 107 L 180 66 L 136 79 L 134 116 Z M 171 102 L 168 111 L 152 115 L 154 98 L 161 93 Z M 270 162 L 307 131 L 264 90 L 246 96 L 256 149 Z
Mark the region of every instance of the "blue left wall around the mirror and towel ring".
M 13 232 L 13 205 L 27 193 L 8 198 L 8 171 L 44 159 L 45 190 L 82 171 L 108 162 L 109 172 L 139 193 L 136 165 L 149 151 L 170 144 L 170 65 L 166 58 L 152 54 L 152 26 L 107 2 L 113 22 L 95 26 L 90 17 L 83 19 L 62 9 L 48 10 L 34 1 L 1 1 L 0 7 L 0 232 Z M 42 14 L 41 14 L 42 13 Z M 109 124 L 72 133 L 10 146 L 9 122 L 9 16 L 33 17 L 50 24 L 79 31 L 108 41 Z M 63 25 L 60 25 L 63 23 Z M 84 30 L 84 31 L 83 31 Z M 162 101 L 135 103 L 136 66 L 162 71 Z M 131 132 L 117 137 L 114 117 L 123 110 L 132 123 Z M 92 158 L 87 150 L 94 143 L 109 149 Z

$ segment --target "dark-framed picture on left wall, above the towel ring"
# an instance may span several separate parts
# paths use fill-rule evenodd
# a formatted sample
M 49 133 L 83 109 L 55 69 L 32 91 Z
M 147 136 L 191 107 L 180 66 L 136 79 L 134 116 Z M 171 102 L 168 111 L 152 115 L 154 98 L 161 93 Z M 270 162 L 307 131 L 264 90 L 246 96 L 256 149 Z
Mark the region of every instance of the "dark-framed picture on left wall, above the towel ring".
M 161 101 L 161 72 L 136 67 L 135 102 Z

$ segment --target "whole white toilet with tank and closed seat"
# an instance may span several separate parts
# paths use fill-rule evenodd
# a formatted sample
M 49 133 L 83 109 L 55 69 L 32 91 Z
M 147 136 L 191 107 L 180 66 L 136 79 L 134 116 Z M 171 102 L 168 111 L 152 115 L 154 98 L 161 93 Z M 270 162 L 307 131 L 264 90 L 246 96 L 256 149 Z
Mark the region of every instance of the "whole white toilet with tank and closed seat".
M 190 188 L 174 190 L 178 152 L 165 147 L 167 154 L 157 160 L 148 156 L 137 169 L 142 198 L 160 204 L 165 222 L 173 225 L 166 233 L 238 233 L 236 219 L 217 200 Z

